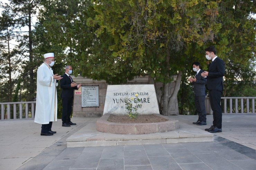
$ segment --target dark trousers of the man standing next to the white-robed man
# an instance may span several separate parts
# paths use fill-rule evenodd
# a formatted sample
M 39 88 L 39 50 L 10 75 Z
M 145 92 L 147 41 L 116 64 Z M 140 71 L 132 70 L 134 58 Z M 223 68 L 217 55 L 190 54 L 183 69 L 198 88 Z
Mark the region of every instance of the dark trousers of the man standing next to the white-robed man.
M 73 98 L 62 98 L 62 124 L 70 122 Z

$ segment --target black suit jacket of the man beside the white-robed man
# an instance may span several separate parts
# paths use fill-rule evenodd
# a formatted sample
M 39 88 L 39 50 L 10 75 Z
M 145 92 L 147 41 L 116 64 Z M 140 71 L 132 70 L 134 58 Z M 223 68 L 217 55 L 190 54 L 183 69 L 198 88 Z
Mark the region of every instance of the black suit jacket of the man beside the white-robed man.
M 78 89 L 77 86 L 71 87 L 71 80 L 67 76 L 66 73 L 64 73 L 61 77 L 63 77 L 63 79 L 61 79 L 61 88 L 62 88 L 61 97 L 62 98 L 73 98 L 74 90 Z

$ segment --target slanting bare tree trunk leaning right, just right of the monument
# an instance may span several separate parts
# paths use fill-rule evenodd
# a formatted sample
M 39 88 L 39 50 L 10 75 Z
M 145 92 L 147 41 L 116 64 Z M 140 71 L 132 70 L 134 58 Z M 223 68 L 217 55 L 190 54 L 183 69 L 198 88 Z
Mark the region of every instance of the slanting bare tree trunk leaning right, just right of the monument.
M 173 93 L 171 95 L 170 98 L 168 98 L 168 115 L 171 115 L 171 109 L 174 107 L 174 100 L 177 98 L 177 94 L 180 90 L 180 86 L 181 86 L 181 78 L 182 78 L 182 71 L 179 71 L 178 75 L 177 75 L 177 79 L 175 81 L 175 86 L 174 86 L 174 90 Z M 170 83 L 171 85 L 171 83 Z

